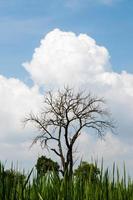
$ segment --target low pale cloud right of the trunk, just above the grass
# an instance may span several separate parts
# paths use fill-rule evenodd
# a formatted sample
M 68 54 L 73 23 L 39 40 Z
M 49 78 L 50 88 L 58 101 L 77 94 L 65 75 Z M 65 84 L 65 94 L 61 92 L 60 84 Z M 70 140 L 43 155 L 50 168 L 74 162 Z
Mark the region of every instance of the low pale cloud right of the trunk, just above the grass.
M 112 171 L 113 163 L 123 171 L 124 161 L 128 173 L 133 176 L 131 161 L 133 146 L 120 139 L 119 136 L 107 133 L 104 140 L 94 138 L 92 135 L 83 133 L 78 139 L 77 157 L 90 162 L 98 162 L 101 165 L 103 159 L 104 167 Z

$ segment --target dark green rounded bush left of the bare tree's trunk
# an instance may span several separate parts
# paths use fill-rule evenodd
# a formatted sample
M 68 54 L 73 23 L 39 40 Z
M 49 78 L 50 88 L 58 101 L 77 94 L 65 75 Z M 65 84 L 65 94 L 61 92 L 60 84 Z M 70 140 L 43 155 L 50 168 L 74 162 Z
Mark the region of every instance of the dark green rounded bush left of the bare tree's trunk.
M 54 162 L 46 156 L 41 156 L 38 158 L 36 163 L 37 174 L 39 176 L 45 175 L 47 172 L 54 171 L 55 173 L 59 172 L 59 165 L 57 162 Z

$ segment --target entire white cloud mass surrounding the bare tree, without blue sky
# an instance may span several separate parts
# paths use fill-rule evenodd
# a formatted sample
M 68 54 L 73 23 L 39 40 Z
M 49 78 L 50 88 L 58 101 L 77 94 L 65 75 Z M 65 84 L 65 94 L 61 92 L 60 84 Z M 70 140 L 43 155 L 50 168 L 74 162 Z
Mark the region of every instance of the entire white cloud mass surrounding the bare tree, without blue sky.
M 11 158 L 13 152 L 12 155 L 25 158 L 26 162 L 35 159 L 34 155 L 41 150 L 35 147 L 26 153 L 33 134 L 30 135 L 31 129 L 22 130 L 21 119 L 31 110 L 38 111 L 42 102 L 39 87 L 44 87 L 45 91 L 46 88 L 70 85 L 105 97 L 118 124 L 118 135 L 108 133 L 105 141 L 83 133 L 78 141 L 80 157 L 104 157 L 106 163 L 126 160 L 131 169 L 133 75 L 126 71 L 114 72 L 105 47 L 86 34 L 55 29 L 41 40 L 31 61 L 23 65 L 33 80 L 32 88 L 17 79 L 0 76 L 0 149 L 5 158 L 9 158 L 6 155 L 10 151 Z

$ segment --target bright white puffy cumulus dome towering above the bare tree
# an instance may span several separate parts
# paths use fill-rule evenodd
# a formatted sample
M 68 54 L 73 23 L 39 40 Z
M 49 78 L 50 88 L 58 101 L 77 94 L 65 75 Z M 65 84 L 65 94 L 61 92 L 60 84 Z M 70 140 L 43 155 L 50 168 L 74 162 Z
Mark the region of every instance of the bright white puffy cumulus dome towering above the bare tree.
M 24 64 L 39 85 L 86 84 L 109 68 L 106 48 L 86 34 L 55 29 L 35 49 L 30 63 Z

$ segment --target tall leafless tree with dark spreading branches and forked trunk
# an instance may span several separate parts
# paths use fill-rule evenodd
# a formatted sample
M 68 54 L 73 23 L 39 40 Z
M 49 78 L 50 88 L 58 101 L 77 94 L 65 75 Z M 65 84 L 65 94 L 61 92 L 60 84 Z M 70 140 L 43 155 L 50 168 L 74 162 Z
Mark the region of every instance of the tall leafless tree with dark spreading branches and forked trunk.
M 66 172 L 71 176 L 73 147 L 83 129 L 93 129 L 100 137 L 107 129 L 114 129 L 105 105 L 103 98 L 67 87 L 56 93 L 48 92 L 40 115 L 29 114 L 25 123 L 33 122 L 40 132 L 33 144 L 40 141 L 53 151 L 60 158 L 62 174 Z M 56 148 L 50 146 L 50 141 L 55 141 Z

